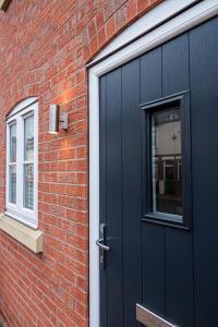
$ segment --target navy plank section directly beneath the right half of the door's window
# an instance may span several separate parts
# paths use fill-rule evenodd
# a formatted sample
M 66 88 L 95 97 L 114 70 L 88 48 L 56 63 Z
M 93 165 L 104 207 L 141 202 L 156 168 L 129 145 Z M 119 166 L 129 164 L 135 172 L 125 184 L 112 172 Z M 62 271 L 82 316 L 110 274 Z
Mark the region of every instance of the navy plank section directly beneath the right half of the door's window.
M 166 318 L 194 326 L 193 256 L 190 232 L 166 228 Z

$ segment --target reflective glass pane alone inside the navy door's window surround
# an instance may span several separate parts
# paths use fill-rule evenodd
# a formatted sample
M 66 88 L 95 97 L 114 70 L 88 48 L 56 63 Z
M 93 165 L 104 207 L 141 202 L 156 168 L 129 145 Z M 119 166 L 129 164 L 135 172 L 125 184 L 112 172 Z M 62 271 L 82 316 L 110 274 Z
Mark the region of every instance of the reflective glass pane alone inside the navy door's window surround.
M 182 215 L 181 121 L 178 107 L 152 114 L 153 210 Z

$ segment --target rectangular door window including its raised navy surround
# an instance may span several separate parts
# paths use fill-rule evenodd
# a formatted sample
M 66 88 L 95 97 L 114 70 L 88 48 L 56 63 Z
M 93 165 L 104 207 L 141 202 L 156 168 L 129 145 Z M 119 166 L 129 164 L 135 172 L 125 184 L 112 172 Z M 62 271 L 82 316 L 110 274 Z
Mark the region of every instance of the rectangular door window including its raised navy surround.
M 189 94 L 142 105 L 143 219 L 187 227 L 191 214 Z

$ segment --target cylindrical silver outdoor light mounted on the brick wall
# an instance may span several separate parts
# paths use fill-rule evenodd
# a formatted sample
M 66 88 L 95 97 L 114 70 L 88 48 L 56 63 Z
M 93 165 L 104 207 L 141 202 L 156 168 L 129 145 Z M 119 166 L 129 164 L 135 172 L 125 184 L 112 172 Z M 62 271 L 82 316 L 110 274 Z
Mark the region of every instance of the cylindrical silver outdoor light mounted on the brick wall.
M 60 113 L 60 107 L 58 105 L 50 105 L 49 114 L 49 133 L 59 133 L 59 123 L 62 130 L 68 130 L 68 113 Z

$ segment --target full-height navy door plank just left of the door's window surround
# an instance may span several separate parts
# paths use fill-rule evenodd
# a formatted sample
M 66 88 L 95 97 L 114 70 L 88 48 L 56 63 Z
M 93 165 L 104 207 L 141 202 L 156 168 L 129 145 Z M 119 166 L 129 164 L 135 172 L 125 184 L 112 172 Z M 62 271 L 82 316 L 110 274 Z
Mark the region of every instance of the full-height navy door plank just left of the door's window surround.
M 122 68 L 124 327 L 136 326 L 142 299 L 140 59 Z

